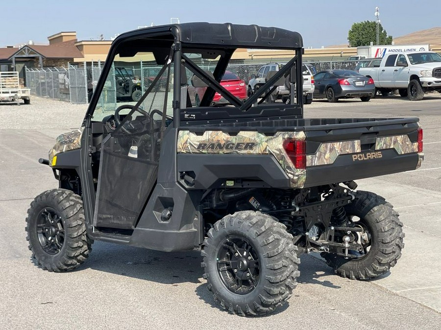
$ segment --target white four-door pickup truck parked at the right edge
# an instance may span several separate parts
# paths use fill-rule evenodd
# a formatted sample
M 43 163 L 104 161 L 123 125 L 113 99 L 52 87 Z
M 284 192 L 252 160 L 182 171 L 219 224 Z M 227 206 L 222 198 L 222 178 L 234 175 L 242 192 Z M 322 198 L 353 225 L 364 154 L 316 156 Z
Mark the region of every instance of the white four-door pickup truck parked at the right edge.
M 435 52 L 389 54 L 380 67 L 361 67 L 359 72 L 372 78 L 383 95 L 398 89 L 402 97 L 419 101 L 427 91 L 441 93 L 441 55 Z

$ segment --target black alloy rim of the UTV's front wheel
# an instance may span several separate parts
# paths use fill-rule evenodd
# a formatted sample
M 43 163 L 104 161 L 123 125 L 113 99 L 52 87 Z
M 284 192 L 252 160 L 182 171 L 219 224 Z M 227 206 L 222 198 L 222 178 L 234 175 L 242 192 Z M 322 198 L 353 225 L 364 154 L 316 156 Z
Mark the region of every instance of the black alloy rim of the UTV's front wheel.
M 38 242 L 42 249 L 55 255 L 64 244 L 64 227 L 61 216 L 51 207 L 41 210 L 37 220 Z

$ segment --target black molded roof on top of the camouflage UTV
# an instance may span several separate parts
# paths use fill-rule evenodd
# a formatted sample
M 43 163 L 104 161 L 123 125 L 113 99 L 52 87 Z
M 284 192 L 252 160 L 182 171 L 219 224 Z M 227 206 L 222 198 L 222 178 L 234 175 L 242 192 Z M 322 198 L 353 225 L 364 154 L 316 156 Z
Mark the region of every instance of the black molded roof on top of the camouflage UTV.
M 298 32 L 278 27 L 240 25 L 232 23 L 182 23 L 151 26 L 125 32 L 115 39 L 115 43 L 128 37 L 172 35 L 184 46 L 225 46 L 236 48 L 292 49 L 303 47 Z

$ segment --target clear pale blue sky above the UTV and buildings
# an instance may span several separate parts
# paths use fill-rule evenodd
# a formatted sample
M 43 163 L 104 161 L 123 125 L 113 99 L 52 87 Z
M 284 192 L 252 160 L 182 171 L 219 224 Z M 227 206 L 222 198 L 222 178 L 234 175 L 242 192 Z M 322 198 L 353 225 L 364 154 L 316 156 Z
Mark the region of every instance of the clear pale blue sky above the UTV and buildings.
M 76 31 L 79 40 L 106 39 L 140 25 L 232 22 L 298 31 L 305 47 L 347 43 L 353 22 L 375 20 L 375 6 L 389 35 L 441 26 L 441 0 L 19 0 L 0 6 L 0 47 L 47 42 Z

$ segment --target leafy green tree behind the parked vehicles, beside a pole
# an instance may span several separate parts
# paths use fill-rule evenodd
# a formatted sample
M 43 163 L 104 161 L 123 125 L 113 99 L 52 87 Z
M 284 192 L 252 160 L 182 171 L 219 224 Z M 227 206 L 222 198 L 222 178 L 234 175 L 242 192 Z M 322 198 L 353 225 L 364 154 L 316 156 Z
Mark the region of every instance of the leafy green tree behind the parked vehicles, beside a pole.
M 392 44 L 392 36 L 388 36 L 386 30 L 379 23 L 380 44 Z M 364 21 L 353 23 L 347 33 L 347 40 L 351 47 L 368 46 L 370 42 L 377 42 L 377 22 Z

